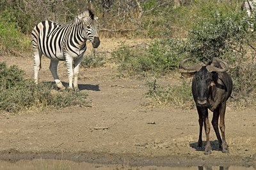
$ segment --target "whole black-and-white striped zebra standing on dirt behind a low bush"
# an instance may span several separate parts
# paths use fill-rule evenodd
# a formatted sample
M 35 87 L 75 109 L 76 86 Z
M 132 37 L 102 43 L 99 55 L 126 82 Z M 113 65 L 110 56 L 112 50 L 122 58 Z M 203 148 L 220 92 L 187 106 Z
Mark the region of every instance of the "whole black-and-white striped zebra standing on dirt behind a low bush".
M 59 61 L 65 61 L 69 81 L 68 90 L 73 89 L 74 78 L 74 90 L 78 91 L 79 65 L 86 51 L 86 40 L 91 41 L 93 48 L 100 45 L 97 27 L 97 17 L 91 10 L 77 15 L 72 24 L 61 25 L 51 20 L 44 20 L 37 24 L 31 33 L 35 83 L 38 84 L 38 72 L 44 54 L 51 59 L 49 69 L 57 87 L 60 90 L 65 89 L 57 74 Z

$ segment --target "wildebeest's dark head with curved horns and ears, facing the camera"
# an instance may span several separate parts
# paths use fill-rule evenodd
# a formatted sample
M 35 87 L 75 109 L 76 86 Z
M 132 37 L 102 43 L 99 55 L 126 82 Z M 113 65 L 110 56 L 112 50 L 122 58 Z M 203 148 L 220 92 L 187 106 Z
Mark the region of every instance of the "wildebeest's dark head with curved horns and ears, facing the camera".
M 186 70 L 193 70 L 190 73 L 182 73 L 182 76 L 192 77 L 192 93 L 197 106 L 206 106 L 209 99 L 209 94 L 212 88 L 216 86 L 218 79 L 218 73 L 228 70 L 228 64 L 223 62 L 224 66 L 220 66 L 218 60 L 213 59 L 207 66 L 201 66 L 199 64 L 194 66 L 184 66 L 184 62 L 189 59 L 182 60 L 180 67 Z

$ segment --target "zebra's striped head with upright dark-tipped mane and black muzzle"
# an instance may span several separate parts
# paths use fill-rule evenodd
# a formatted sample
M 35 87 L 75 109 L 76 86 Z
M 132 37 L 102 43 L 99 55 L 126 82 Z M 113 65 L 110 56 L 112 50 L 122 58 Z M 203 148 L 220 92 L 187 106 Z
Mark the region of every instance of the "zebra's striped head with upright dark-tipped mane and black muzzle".
M 100 39 L 97 32 L 97 19 L 91 10 L 86 10 L 77 16 L 78 20 L 83 23 L 85 38 L 90 39 L 93 48 L 97 48 L 100 45 Z

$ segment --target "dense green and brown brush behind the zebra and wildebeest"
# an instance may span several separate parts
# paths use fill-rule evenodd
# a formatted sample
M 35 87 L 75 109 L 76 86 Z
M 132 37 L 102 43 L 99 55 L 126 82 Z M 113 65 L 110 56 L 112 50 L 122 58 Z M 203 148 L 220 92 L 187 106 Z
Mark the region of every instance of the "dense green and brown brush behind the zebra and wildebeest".
M 122 44 L 111 53 L 111 62 L 118 64 L 122 74 L 148 76 L 150 90 L 147 96 L 157 99 L 159 103 L 173 103 L 175 97 L 170 96 L 180 94 L 181 98 L 176 97 L 178 104 L 190 100 L 188 83 L 183 82 L 180 87 L 159 87 L 157 78 L 179 71 L 179 62 L 184 58 L 192 57 L 195 62 L 207 62 L 211 57 L 218 57 L 232 68 L 229 71 L 234 80 L 231 101 L 239 103 L 236 106 L 243 108 L 253 105 L 256 97 L 256 48 L 255 32 L 248 31 L 248 23 L 255 20 L 248 17 L 245 10 L 241 10 L 242 2 L 2 0 L 0 56 L 12 53 L 19 57 L 23 53 L 31 53 L 30 33 L 38 22 L 54 20 L 63 24 L 70 23 L 74 16 L 90 8 L 99 17 L 101 37 L 154 40 L 150 44 L 133 48 Z M 82 65 L 97 67 L 105 62 L 104 56 L 95 57 L 93 54 L 84 59 Z

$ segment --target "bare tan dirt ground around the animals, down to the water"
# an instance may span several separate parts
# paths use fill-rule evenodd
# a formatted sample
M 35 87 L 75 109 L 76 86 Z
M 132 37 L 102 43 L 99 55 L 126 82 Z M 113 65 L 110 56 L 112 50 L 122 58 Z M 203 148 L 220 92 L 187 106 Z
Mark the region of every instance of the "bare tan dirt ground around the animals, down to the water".
M 140 39 L 102 39 L 97 52 L 109 53 L 122 41 L 129 45 L 141 43 Z M 19 66 L 33 78 L 32 56 L 0 56 L 0 62 L 3 61 Z M 49 60 L 44 57 L 40 82 L 53 81 L 48 67 Z M 67 82 L 67 71 L 62 63 L 58 71 L 61 80 Z M 230 153 L 218 150 L 211 128 L 213 151 L 206 156 L 204 151 L 195 147 L 199 131 L 195 109 L 150 107 L 149 99 L 145 98 L 148 87 L 143 78 L 118 78 L 116 75 L 116 67 L 112 64 L 80 70 L 79 88 L 88 93 L 92 107 L 1 114 L 0 160 L 16 162 L 42 158 L 132 167 L 209 165 L 256 168 L 255 110 L 228 108 L 225 124 Z M 173 83 L 175 80 L 169 75 L 161 81 Z

